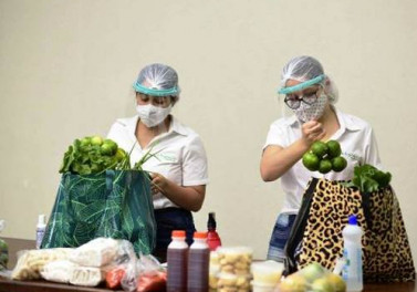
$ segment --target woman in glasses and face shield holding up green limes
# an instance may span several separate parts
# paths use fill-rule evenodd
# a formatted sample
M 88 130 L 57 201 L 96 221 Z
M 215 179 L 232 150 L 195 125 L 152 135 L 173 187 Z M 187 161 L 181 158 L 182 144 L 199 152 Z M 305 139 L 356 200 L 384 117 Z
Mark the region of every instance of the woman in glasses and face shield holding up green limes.
M 314 58 L 298 56 L 289 61 L 282 71 L 279 94 L 284 95 L 285 106 L 293 115 L 271 124 L 260 170 L 264 181 L 281 178 L 284 200 L 272 231 L 268 258 L 283 261 L 284 246 L 311 177 L 347 180 L 352 179 L 356 165 L 380 167 L 380 160 L 372 127 L 334 106 L 337 90 Z M 326 175 L 307 170 L 302 165 L 303 154 L 314 142 L 330 139 L 341 144 L 347 167 Z

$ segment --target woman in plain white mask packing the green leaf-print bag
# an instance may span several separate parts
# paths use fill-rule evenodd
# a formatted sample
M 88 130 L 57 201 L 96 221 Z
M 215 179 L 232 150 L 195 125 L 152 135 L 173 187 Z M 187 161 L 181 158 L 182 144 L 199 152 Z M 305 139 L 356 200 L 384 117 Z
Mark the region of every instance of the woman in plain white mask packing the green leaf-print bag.
M 137 115 L 117 119 L 107 137 L 131 153 L 131 164 L 147 153 L 154 154 L 143 165 L 150 173 L 156 249 L 166 261 L 173 230 L 186 230 L 192 242 L 195 229 L 191 211 L 204 202 L 208 182 L 207 158 L 196 132 L 180 124 L 171 114 L 179 100 L 177 72 L 164 64 L 145 66 L 134 84 Z

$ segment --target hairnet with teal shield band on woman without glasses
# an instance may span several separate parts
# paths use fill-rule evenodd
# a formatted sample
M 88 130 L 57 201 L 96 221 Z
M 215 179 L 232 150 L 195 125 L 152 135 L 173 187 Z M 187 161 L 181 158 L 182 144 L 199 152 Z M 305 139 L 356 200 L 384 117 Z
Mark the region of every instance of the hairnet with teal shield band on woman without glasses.
M 155 96 L 179 97 L 178 74 L 170 66 L 150 64 L 140 70 L 135 84 L 136 92 Z

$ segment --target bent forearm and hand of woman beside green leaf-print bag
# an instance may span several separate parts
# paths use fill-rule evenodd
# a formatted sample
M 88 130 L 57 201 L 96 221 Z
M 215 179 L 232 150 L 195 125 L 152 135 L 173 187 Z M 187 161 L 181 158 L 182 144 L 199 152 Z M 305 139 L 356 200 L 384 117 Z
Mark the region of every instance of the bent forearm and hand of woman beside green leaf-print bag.
M 197 212 L 201 209 L 206 195 L 206 186 L 178 186 L 159 174 L 152 174 L 153 194 L 163 192 L 175 205 Z

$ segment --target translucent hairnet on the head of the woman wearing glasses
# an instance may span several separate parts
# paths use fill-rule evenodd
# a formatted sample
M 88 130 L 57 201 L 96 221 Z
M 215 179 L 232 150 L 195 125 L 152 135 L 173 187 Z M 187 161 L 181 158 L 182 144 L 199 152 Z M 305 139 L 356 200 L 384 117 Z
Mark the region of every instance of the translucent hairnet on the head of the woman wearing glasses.
M 324 79 L 320 76 L 324 76 Z M 282 70 L 281 90 L 285 87 L 288 80 L 306 82 L 306 84 L 309 81 L 317 80 L 323 85 L 331 103 L 335 103 L 338 98 L 338 91 L 334 82 L 324 74 L 322 64 L 312 56 L 301 55 L 291 59 Z

